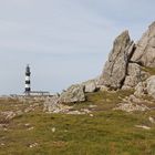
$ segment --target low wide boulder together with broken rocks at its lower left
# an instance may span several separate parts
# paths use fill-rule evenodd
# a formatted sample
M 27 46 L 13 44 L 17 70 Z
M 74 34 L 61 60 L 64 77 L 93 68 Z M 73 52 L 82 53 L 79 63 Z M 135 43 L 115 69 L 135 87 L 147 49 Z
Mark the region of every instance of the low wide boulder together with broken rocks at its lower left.
M 48 97 L 44 101 L 43 111 L 48 113 L 70 114 L 70 110 L 72 108 L 72 106 L 65 104 L 84 102 L 86 100 L 84 94 L 84 87 L 85 86 L 83 84 L 71 85 L 66 91 L 63 91 L 61 94 L 56 94 L 53 95 L 52 97 Z

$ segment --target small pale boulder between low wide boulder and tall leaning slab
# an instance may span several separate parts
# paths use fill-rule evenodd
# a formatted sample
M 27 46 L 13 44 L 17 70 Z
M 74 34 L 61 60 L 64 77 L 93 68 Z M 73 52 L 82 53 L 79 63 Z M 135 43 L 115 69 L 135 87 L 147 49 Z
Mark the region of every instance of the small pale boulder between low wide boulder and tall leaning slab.
M 97 90 L 95 80 L 89 80 L 86 82 L 83 82 L 82 85 L 84 85 L 85 93 L 93 93 Z

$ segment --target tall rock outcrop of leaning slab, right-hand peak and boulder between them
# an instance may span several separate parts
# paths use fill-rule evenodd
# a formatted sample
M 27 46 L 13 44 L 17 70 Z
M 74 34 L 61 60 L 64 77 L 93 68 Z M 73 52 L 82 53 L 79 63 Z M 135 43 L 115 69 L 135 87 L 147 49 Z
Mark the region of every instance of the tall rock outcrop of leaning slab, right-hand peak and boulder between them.
M 128 31 L 115 39 L 99 85 L 113 90 L 135 87 L 149 76 L 142 66 L 155 66 L 155 22 L 149 25 L 137 44 L 131 41 Z

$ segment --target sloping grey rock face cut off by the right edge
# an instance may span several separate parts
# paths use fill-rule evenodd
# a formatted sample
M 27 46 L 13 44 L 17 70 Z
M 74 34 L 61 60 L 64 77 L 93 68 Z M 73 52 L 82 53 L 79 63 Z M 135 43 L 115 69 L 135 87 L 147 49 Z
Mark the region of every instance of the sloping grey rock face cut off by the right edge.
M 144 66 L 155 68 L 155 22 L 148 27 L 138 41 L 132 61 Z

